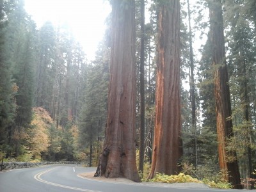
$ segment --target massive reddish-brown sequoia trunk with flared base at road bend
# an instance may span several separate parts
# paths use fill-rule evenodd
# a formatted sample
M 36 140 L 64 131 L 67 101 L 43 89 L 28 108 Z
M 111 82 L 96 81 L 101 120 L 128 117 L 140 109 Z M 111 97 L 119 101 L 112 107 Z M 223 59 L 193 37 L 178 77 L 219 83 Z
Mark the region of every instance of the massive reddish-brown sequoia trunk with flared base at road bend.
M 140 182 L 136 167 L 134 0 L 112 1 L 112 27 L 108 120 L 95 176 Z

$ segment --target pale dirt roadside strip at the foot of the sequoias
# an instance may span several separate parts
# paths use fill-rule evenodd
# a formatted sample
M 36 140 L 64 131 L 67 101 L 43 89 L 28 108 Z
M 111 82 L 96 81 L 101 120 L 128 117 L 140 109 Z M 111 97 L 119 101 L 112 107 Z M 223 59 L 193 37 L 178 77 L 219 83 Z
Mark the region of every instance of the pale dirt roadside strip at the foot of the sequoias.
M 90 180 L 98 180 L 100 182 L 116 182 L 120 184 L 134 184 L 134 185 L 142 185 L 142 186 L 161 186 L 164 188 L 190 188 L 190 189 L 209 189 L 209 186 L 206 184 L 201 183 L 194 183 L 194 182 L 186 182 L 186 183 L 163 183 L 163 182 L 133 182 L 132 180 L 125 179 L 125 178 L 106 178 L 104 176 L 102 177 L 93 177 L 95 172 L 91 173 L 81 173 L 79 174 L 80 177 L 84 177 L 85 179 Z

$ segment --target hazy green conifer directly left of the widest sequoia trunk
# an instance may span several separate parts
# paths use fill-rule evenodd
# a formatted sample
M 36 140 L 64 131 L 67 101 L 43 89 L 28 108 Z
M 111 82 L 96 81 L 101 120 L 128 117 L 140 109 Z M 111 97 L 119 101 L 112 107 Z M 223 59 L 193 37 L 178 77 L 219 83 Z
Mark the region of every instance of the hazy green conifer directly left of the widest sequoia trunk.
M 86 152 L 90 166 L 97 165 L 99 151 L 101 151 L 106 112 L 108 109 L 108 80 L 109 80 L 109 49 L 106 45 L 100 45 L 97 58 L 92 66 L 86 68 L 86 86 L 84 99 L 79 116 L 79 146 L 81 152 Z M 95 154 L 92 162 L 93 146 Z

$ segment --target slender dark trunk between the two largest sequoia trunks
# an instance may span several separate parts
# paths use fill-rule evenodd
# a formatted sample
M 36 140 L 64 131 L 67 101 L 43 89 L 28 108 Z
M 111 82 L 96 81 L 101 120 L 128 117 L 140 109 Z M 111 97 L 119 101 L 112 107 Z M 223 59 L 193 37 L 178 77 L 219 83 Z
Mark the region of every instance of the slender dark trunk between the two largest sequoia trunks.
M 139 170 L 143 173 L 145 153 L 145 0 L 141 0 L 141 42 L 140 42 L 140 160 Z

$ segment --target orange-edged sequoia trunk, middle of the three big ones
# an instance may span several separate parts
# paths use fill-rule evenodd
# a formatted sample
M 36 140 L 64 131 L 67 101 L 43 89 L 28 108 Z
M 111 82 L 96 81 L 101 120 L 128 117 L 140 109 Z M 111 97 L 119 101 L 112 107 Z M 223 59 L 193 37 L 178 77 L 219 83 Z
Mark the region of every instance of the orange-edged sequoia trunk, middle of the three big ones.
M 160 1 L 156 125 L 152 169 L 168 175 L 179 172 L 182 155 L 180 115 L 180 1 Z

